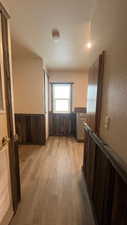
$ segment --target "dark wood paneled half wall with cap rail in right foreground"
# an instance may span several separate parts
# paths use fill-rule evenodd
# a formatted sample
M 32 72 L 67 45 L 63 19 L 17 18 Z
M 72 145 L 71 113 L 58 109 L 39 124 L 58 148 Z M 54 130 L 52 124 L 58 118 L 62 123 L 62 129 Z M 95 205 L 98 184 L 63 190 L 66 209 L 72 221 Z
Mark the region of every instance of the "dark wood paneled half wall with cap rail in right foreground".
M 127 224 L 127 165 L 85 124 L 83 171 L 98 225 Z

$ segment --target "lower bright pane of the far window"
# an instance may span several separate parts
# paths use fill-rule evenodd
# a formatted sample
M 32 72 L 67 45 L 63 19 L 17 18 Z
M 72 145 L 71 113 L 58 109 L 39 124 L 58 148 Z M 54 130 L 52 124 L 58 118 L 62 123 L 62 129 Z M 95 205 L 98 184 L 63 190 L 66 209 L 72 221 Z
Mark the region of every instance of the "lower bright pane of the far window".
M 68 100 L 55 100 L 55 112 L 70 112 L 70 104 Z

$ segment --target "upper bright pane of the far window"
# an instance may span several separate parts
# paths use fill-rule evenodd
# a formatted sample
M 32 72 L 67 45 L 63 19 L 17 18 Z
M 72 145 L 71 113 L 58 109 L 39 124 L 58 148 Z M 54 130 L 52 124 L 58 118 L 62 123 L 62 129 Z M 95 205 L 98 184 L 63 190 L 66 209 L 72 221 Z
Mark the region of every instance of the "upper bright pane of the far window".
M 70 98 L 70 84 L 54 84 L 54 98 Z

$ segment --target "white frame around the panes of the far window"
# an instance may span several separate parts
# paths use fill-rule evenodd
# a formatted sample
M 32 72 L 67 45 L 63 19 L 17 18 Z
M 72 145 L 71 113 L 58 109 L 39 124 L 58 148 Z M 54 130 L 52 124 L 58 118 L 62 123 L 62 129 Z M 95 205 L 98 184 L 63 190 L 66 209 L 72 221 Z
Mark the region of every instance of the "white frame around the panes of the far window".
M 55 98 L 54 97 L 54 88 L 56 85 L 70 86 L 69 98 Z M 69 104 L 69 110 L 68 111 L 56 111 L 55 102 L 57 100 L 67 100 L 68 104 Z M 58 114 L 62 114 L 62 113 L 69 114 L 72 112 L 72 83 L 52 83 L 52 110 L 53 110 L 53 113 L 56 113 L 56 114 L 57 113 Z

